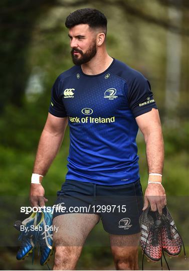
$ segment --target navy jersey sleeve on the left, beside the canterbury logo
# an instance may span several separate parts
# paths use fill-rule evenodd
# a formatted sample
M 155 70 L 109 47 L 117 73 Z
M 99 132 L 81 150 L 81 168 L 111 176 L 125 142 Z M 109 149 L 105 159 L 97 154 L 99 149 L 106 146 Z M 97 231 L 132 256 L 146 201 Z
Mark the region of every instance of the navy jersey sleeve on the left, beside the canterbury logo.
M 51 90 L 51 103 L 49 106 L 49 112 L 57 117 L 66 117 L 66 109 L 60 94 L 61 84 L 59 78 L 57 78 Z

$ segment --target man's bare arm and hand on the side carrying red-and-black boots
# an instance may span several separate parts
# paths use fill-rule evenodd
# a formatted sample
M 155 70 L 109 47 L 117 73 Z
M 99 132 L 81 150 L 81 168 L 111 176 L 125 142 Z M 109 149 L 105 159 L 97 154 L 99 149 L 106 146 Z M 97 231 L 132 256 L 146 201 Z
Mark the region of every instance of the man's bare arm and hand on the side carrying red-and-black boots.
M 146 143 L 146 158 L 149 173 L 162 174 L 164 162 L 164 145 L 161 131 L 161 123 L 158 110 L 152 108 L 151 111 L 136 117 L 137 124 L 144 135 Z M 148 184 L 144 196 L 144 208 L 148 206 L 148 201 L 152 211 L 158 210 L 161 214 L 162 208 L 166 204 L 165 191 L 160 184 Z

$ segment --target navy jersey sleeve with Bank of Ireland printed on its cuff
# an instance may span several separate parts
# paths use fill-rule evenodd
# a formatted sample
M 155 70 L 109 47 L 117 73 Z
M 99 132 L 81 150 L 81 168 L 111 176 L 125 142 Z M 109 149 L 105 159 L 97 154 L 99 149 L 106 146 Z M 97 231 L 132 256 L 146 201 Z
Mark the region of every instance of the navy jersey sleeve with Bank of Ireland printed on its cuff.
M 152 108 L 157 109 L 150 83 L 140 73 L 136 75 L 128 86 L 127 99 L 134 117 L 151 111 Z

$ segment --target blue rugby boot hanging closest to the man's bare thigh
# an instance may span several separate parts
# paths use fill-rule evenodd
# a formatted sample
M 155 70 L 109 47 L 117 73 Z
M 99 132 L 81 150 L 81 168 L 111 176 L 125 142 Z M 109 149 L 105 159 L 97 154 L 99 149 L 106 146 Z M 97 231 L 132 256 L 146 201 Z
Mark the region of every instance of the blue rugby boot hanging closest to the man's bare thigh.
M 44 265 L 50 259 L 53 254 L 53 208 L 51 208 L 51 212 L 42 211 L 42 222 L 40 226 L 42 230 L 39 232 L 39 244 L 40 244 L 40 264 Z

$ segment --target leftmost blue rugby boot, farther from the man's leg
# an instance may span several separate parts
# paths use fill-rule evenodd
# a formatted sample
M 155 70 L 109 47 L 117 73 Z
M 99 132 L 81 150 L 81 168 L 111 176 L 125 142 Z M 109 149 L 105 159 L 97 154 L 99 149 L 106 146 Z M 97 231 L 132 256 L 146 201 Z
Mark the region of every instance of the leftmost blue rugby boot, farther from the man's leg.
M 35 248 L 39 231 L 35 230 L 39 224 L 41 224 L 42 216 L 38 216 L 36 212 L 32 213 L 30 217 L 26 218 L 23 222 L 16 221 L 14 227 L 21 231 L 19 240 L 21 241 L 21 247 L 17 252 L 16 258 L 18 260 L 25 259 Z

